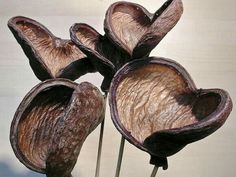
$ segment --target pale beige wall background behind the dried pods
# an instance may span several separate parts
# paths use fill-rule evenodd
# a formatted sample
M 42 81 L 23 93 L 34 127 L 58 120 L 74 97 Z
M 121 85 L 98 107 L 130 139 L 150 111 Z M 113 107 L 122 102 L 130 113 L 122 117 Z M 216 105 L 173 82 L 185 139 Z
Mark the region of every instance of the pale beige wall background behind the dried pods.
M 68 29 L 75 22 L 85 22 L 103 33 L 103 19 L 114 0 L 10 0 L 0 1 L 0 177 L 26 176 L 28 170 L 15 158 L 8 141 L 9 126 L 24 95 L 39 81 L 20 46 L 7 28 L 7 20 L 16 15 L 34 18 L 56 36 L 69 38 Z M 163 0 L 136 0 L 151 12 Z M 184 15 L 178 25 L 154 49 L 152 55 L 175 59 L 191 74 L 199 88 L 223 88 L 236 100 L 236 1 L 183 0 Z M 97 86 L 98 74 L 88 80 Z M 235 103 L 235 102 L 234 102 Z M 236 112 L 213 135 L 187 146 L 169 158 L 169 169 L 159 177 L 235 177 Z M 94 176 L 99 128 L 85 142 L 74 177 Z M 106 116 L 101 177 L 115 173 L 120 134 L 113 126 L 109 109 Z M 150 176 L 148 154 L 126 143 L 121 177 Z M 9 164 L 12 174 L 4 174 Z M 1 167 L 1 165 L 3 167 Z M 28 174 L 29 176 L 29 174 Z

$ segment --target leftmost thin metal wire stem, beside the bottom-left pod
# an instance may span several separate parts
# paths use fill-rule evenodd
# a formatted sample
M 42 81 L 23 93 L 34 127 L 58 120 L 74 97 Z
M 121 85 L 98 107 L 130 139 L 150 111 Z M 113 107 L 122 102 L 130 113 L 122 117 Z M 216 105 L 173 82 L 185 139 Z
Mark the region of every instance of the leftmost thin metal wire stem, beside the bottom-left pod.
M 107 93 L 105 93 L 104 99 L 105 99 L 104 118 L 103 118 L 103 121 L 101 123 L 101 128 L 100 128 L 100 136 L 99 136 L 99 144 L 98 144 L 98 153 L 97 153 L 97 163 L 96 163 L 95 177 L 99 177 L 99 174 L 100 174 L 103 132 L 104 132 L 105 115 L 106 115 Z

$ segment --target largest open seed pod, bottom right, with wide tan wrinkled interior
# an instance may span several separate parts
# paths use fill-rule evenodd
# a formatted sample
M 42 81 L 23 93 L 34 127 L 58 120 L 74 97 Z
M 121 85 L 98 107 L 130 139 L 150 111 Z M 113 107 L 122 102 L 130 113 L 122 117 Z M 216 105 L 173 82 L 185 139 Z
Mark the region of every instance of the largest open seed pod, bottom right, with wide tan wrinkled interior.
M 223 125 L 232 109 L 221 89 L 197 89 L 187 71 L 164 58 L 128 63 L 110 87 L 112 120 L 120 133 L 167 169 L 167 158 Z

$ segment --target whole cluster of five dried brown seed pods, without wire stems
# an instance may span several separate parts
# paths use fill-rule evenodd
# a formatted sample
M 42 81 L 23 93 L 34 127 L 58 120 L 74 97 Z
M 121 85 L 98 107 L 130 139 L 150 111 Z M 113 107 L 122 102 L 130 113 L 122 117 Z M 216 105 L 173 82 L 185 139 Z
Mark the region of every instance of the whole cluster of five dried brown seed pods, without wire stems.
M 88 82 L 104 76 L 117 130 L 167 169 L 167 157 L 220 128 L 232 110 L 222 89 L 198 89 L 176 61 L 149 57 L 183 13 L 181 0 L 167 0 L 154 14 L 131 2 L 112 4 L 104 35 L 84 23 L 71 39 L 54 36 L 39 22 L 13 17 L 8 26 L 42 82 L 22 100 L 11 125 L 17 158 L 48 177 L 70 177 L 86 137 L 104 118 L 104 96 Z

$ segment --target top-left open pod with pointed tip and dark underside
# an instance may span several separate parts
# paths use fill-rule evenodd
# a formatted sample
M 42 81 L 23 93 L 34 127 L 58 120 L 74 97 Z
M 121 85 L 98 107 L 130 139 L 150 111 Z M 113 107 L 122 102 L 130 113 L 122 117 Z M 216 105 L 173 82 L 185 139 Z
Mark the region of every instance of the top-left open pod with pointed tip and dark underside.
M 94 71 L 86 55 L 71 40 L 54 36 L 39 22 L 17 16 L 8 21 L 8 27 L 39 80 L 58 77 L 75 80 Z

